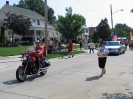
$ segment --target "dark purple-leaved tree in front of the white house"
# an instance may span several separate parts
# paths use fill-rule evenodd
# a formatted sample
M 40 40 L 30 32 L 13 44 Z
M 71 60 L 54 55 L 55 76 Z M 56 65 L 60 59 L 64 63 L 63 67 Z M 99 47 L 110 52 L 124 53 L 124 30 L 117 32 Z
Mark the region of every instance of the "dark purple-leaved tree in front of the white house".
M 12 38 L 13 34 L 26 35 L 29 32 L 31 21 L 29 18 L 24 18 L 22 15 L 11 14 L 10 12 L 5 13 L 7 19 L 3 21 L 3 27 L 11 30 Z

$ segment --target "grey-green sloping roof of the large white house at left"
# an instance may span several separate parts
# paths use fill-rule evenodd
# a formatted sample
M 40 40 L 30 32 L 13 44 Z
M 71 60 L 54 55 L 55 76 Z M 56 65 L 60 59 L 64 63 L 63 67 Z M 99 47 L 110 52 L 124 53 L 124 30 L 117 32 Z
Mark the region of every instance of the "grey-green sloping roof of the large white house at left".
M 7 6 L 10 7 L 11 9 L 13 9 L 14 11 L 16 11 L 20 15 L 44 19 L 44 17 L 42 15 L 38 14 L 35 11 L 31 11 L 29 9 L 24 9 L 24 8 L 19 8 L 19 7 L 14 7 L 14 6 L 10 6 L 10 5 L 7 5 Z

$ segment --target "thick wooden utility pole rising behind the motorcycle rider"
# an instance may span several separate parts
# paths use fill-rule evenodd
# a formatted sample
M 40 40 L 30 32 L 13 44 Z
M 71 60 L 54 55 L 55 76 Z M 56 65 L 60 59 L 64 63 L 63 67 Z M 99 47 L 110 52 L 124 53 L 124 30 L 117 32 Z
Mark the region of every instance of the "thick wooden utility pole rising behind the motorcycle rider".
M 47 17 L 48 17 L 48 10 L 47 10 L 47 0 L 45 0 L 44 3 L 44 11 L 45 11 L 45 21 L 44 21 L 44 28 L 45 28 L 45 50 L 46 50 L 46 56 L 48 55 L 48 31 L 47 31 Z

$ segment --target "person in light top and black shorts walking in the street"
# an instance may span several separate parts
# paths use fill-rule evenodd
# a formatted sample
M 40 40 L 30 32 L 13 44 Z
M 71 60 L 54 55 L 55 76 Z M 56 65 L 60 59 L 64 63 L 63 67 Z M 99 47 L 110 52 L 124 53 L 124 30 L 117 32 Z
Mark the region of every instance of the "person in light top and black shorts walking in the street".
M 108 54 L 109 54 L 109 50 L 107 48 L 105 48 L 105 43 L 101 42 L 100 47 L 98 48 L 98 53 L 97 53 L 99 67 L 102 69 L 102 73 L 100 75 L 101 77 L 106 72 L 105 64 L 106 64 Z

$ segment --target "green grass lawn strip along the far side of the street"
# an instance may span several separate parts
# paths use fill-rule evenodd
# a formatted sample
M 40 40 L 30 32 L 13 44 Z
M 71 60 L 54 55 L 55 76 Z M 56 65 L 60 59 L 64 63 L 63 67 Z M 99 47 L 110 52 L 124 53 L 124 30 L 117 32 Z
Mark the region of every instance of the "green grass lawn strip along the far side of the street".
M 0 47 L 0 56 L 14 56 L 21 55 L 23 50 L 26 50 L 29 46 L 19 46 L 19 47 Z M 79 47 L 79 45 L 75 45 L 74 48 Z M 73 50 L 74 54 L 84 53 L 83 51 Z M 57 52 L 56 54 L 48 54 L 48 58 L 56 58 L 61 56 L 67 56 L 68 51 Z

